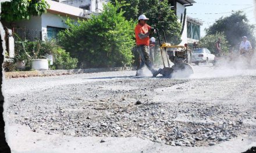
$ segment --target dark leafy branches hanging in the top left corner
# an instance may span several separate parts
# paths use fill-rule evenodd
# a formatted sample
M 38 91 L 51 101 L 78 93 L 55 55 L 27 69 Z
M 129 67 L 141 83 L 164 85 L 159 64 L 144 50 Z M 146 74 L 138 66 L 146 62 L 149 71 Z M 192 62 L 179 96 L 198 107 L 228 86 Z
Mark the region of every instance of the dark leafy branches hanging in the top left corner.
M 12 0 L 2 3 L 1 20 L 12 22 L 30 19 L 30 16 L 41 16 L 49 8 L 45 0 Z

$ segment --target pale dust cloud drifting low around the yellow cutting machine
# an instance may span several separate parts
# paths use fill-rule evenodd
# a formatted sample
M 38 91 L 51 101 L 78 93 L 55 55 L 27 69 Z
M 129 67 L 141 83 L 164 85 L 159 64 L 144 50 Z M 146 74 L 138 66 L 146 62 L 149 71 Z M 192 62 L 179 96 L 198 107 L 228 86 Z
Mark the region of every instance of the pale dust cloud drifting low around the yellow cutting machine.
M 171 66 L 172 65 L 173 63 L 171 63 Z M 163 65 L 156 65 L 155 68 L 163 68 Z M 191 74 L 191 68 L 193 69 L 192 71 L 194 71 L 194 74 Z M 256 53 L 251 57 L 250 63 L 248 63 L 247 57 L 234 53 L 217 59 L 215 64 L 191 64 L 191 68 L 187 67 L 183 70 L 177 70 L 176 72 L 173 72 L 171 78 L 200 79 L 233 77 L 237 75 L 256 75 Z M 150 70 L 148 70 L 146 66 L 138 71 L 138 74 L 141 77 L 152 77 Z M 158 77 L 161 77 L 161 75 L 158 75 Z

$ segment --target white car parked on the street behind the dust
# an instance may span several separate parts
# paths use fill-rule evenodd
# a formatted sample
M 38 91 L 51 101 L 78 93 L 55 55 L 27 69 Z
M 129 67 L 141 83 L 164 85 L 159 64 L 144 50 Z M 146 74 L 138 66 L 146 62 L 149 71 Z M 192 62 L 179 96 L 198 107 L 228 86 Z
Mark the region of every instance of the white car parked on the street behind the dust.
M 195 63 L 198 65 L 199 63 L 214 62 L 215 55 L 211 54 L 211 52 L 207 48 L 197 48 L 192 49 L 192 57 L 191 63 Z

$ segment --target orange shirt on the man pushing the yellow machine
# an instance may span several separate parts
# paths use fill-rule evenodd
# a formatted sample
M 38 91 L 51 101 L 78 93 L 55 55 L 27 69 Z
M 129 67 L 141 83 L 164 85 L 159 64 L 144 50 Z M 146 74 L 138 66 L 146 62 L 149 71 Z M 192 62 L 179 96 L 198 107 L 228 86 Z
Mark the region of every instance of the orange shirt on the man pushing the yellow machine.
M 150 45 L 150 37 L 140 39 L 138 37 L 138 34 L 147 34 L 148 30 L 150 30 L 151 27 L 148 24 L 140 25 L 137 24 L 135 27 L 135 37 L 136 37 L 136 45 Z

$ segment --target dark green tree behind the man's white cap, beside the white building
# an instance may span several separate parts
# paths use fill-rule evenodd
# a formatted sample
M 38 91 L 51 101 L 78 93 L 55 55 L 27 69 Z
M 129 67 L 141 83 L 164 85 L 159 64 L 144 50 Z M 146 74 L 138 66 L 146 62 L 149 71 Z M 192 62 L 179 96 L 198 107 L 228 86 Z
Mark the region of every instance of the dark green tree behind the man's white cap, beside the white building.
M 168 0 L 111 0 L 111 3 L 122 3 L 120 10 L 127 20 L 138 20 L 140 14 L 145 14 L 150 20 L 148 24 L 159 30 L 165 30 L 168 42 L 180 43 L 181 24 L 177 20 L 175 12 L 171 9 Z M 155 35 L 156 36 L 156 35 Z

